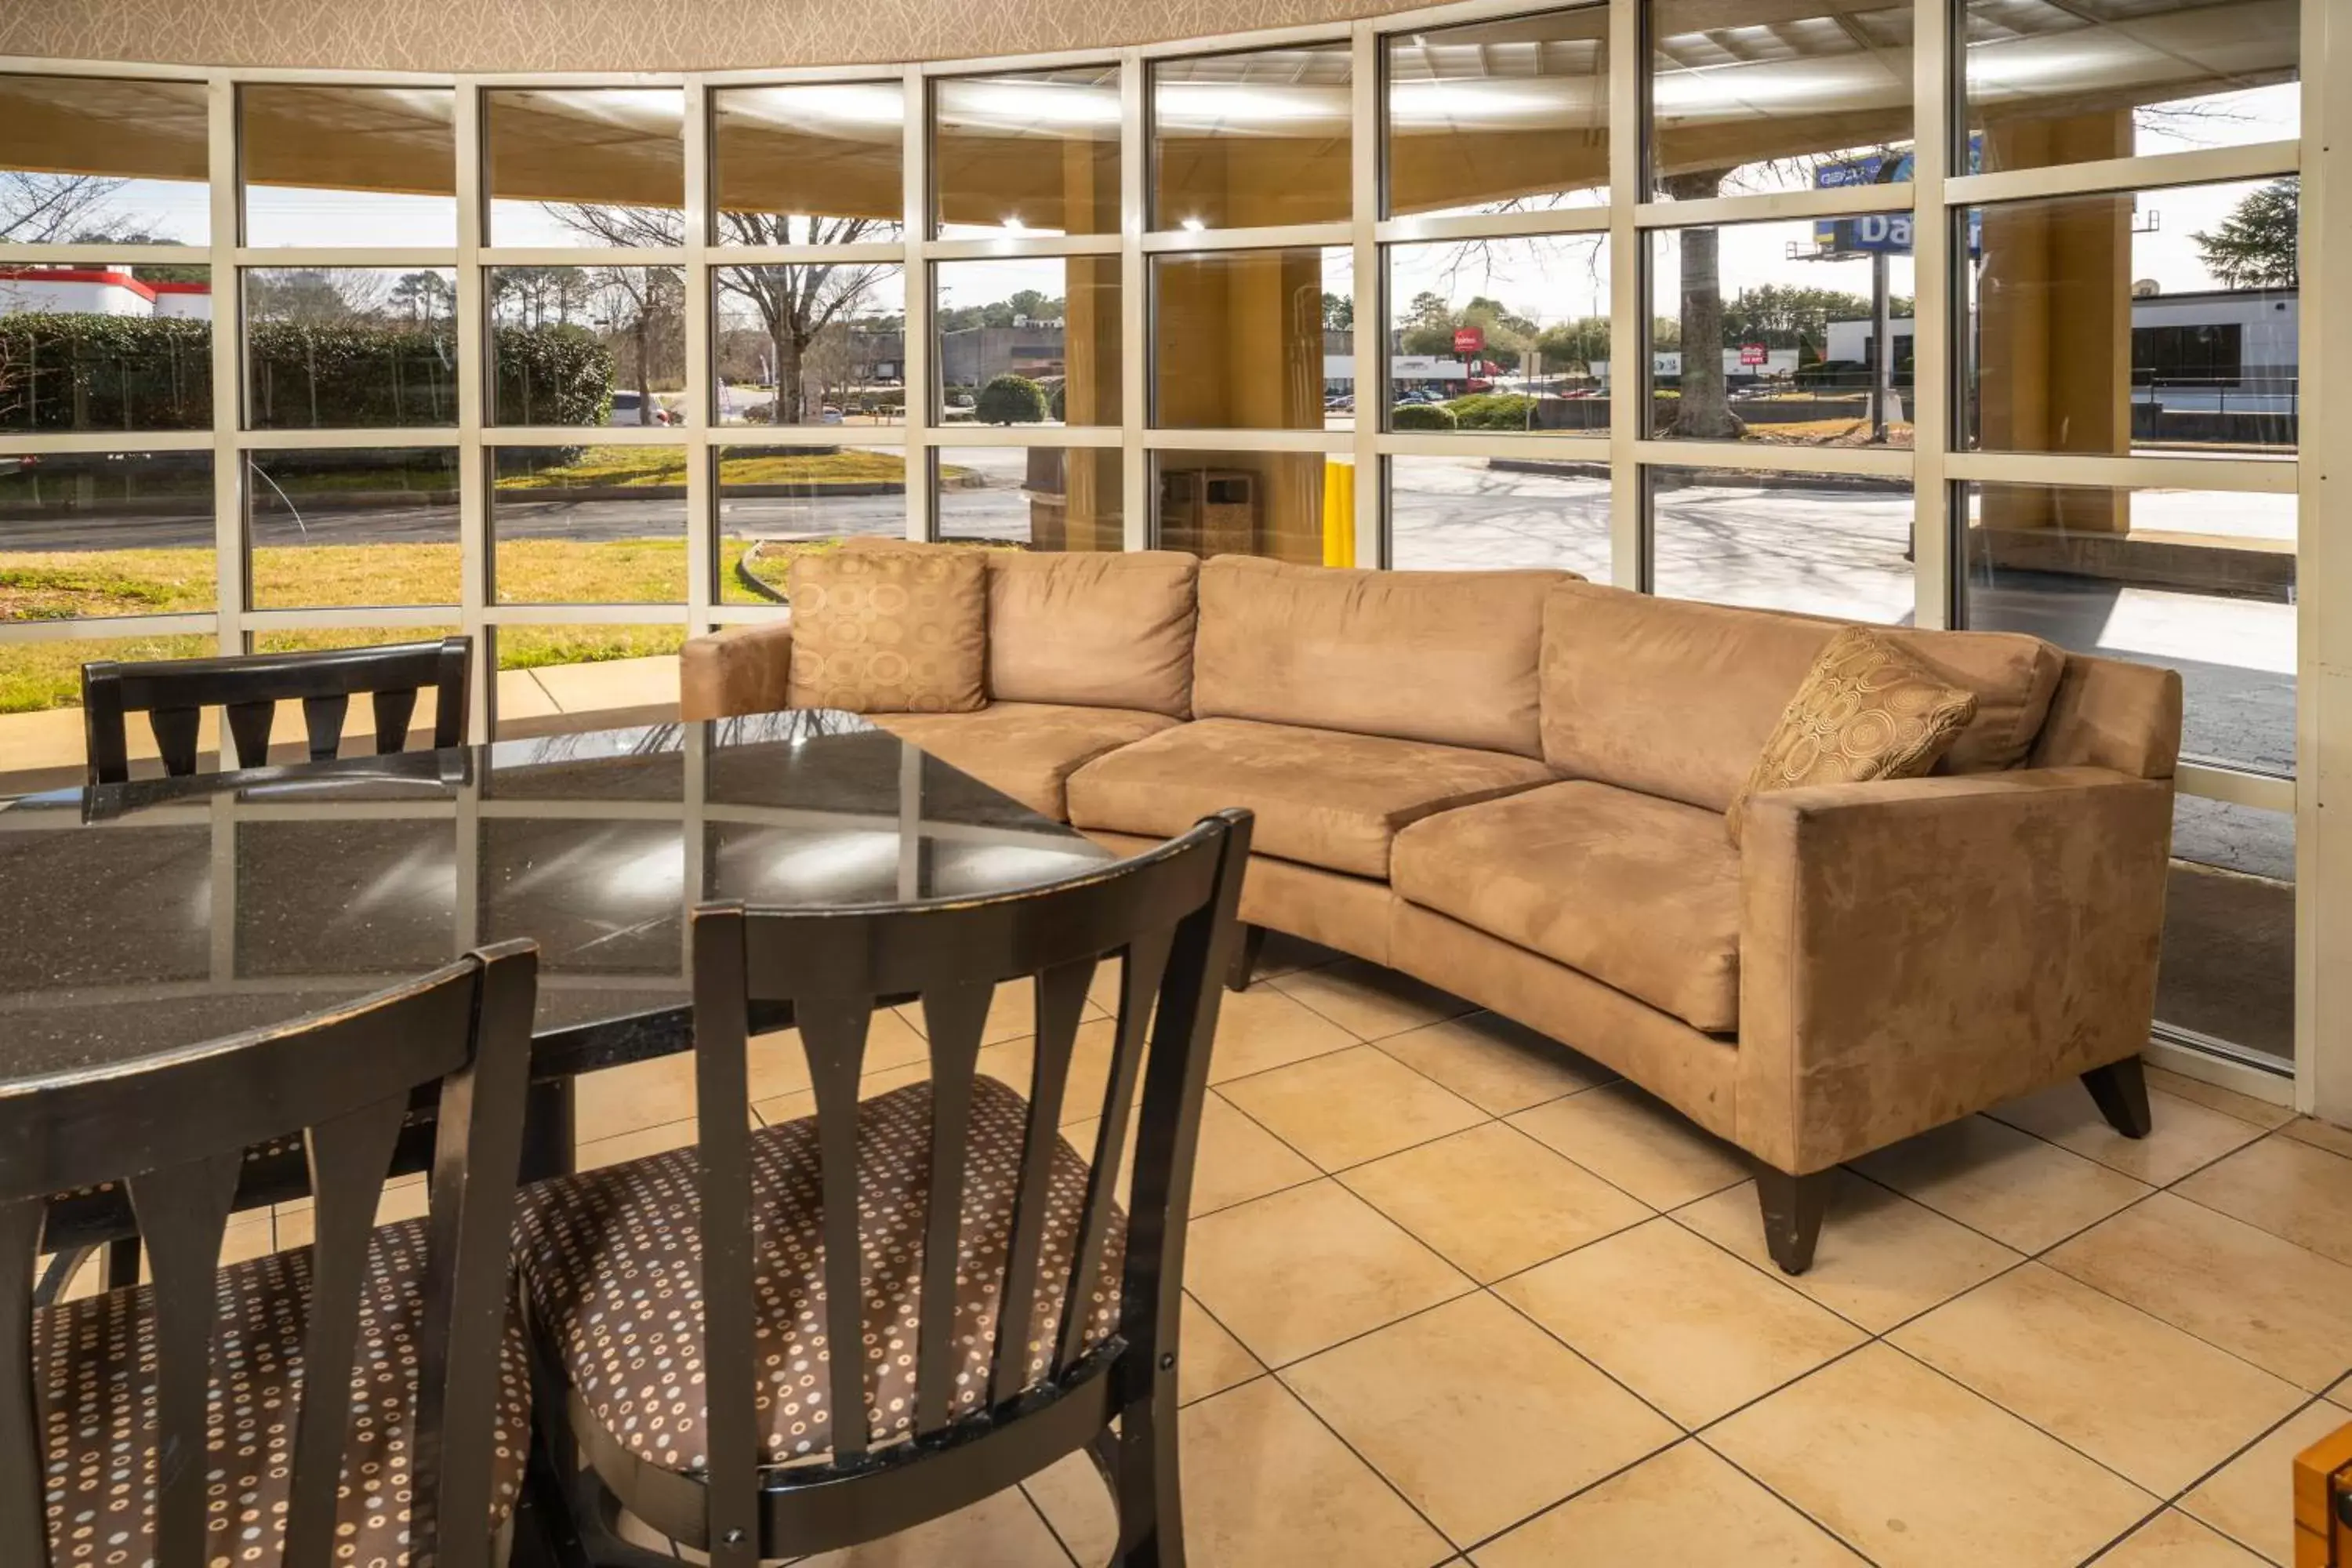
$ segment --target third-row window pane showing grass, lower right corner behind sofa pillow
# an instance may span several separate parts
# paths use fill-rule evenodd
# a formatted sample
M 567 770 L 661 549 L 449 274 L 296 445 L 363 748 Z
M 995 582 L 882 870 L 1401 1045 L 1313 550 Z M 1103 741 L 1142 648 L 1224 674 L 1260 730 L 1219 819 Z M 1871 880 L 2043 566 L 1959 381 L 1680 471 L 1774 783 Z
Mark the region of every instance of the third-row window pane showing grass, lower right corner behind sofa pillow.
M 720 447 L 720 604 L 781 604 L 793 557 L 906 538 L 896 447 Z

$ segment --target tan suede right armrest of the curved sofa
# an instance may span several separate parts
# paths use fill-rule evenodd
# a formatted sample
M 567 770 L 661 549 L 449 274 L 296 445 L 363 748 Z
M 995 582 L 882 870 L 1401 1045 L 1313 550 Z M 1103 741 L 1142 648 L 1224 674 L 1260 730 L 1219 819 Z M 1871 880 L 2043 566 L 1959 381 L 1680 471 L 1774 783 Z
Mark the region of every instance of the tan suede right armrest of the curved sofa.
M 1825 1171 L 2143 1051 L 2171 823 L 2089 766 L 1757 795 L 1740 1143 Z

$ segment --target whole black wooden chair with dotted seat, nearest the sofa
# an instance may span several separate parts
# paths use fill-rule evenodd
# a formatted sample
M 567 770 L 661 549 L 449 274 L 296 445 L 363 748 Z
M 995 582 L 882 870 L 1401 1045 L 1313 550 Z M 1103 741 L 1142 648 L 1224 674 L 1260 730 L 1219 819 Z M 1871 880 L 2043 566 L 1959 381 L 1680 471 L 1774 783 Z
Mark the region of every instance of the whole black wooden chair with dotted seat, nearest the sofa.
M 534 1495 L 562 1500 L 557 1561 L 670 1563 L 619 1537 L 623 1507 L 715 1568 L 830 1552 L 1087 1450 L 1120 1507 L 1117 1561 L 1183 1563 L 1178 1286 L 1249 827 L 1228 811 L 967 903 L 696 910 L 701 1145 L 522 1197 Z M 1073 1074 L 1103 961 L 1108 1063 Z M 974 1070 L 1004 980 L 1035 985 L 1028 1095 Z M 931 1077 L 861 1103 L 891 997 L 920 997 Z M 816 1114 L 746 1131 L 757 1001 L 793 1004 Z M 1101 1114 L 1091 1161 L 1056 1131 L 1080 1114 Z

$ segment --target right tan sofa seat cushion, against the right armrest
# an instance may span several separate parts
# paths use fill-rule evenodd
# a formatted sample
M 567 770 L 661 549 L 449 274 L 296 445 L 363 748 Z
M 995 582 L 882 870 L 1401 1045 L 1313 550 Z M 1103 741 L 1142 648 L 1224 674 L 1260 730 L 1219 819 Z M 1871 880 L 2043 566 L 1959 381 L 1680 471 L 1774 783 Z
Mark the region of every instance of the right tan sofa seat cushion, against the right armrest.
M 1414 823 L 1390 882 L 1693 1030 L 1738 1030 L 1740 853 L 1715 811 L 1555 783 Z

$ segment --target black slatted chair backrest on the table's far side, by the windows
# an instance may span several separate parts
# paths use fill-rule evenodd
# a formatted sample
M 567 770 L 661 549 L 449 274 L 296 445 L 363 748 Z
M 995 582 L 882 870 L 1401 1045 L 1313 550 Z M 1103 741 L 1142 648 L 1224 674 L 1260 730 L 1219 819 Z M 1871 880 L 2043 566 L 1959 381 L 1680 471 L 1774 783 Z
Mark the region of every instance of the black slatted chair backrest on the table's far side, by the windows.
M 89 783 L 122 783 L 132 776 L 125 733 L 125 715 L 132 712 L 148 715 L 162 771 L 174 778 L 195 771 L 195 731 L 205 708 L 226 710 L 238 762 L 261 766 L 270 752 L 278 703 L 301 701 L 310 759 L 322 762 L 343 743 L 343 717 L 350 712 L 353 693 L 365 691 L 374 698 L 376 752 L 397 752 L 409 743 L 416 693 L 433 686 L 433 748 L 466 745 L 470 670 L 470 637 L 315 654 L 87 663 L 82 733 L 89 748 Z

